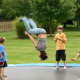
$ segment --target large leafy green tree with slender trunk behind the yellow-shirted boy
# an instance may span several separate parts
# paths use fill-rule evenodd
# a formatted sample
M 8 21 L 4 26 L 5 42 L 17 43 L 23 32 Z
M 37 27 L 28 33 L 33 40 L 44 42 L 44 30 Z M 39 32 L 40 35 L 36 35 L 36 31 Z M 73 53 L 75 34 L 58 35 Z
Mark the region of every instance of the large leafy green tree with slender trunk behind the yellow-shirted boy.
M 34 18 L 39 22 L 50 22 L 52 36 L 52 20 L 65 22 L 75 17 L 75 0 L 34 0 L 32 6 Z

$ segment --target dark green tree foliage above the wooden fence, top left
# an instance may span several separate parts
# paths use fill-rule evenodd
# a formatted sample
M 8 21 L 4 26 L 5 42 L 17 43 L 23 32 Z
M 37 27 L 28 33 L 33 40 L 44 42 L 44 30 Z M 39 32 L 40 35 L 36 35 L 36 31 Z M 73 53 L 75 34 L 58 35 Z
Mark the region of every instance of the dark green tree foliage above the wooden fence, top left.
M 2 16 L 6 19 L 14 19 L 16 16 L 29 16 L 29 0 L 3 0 Z

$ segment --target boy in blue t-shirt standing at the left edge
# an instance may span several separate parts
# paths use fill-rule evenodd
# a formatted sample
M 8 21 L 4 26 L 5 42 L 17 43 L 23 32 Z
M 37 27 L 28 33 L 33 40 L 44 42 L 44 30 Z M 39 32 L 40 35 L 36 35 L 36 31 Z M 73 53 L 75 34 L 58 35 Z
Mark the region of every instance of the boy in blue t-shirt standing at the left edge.
M 4 68 L 7 67 L 7 59 L 6 59 L 6 52 L 4 48 L 5 44 L 5 38 L 0 37 L 0 79 L 1 80 L 6 80 L 5 75 L 4 75 Z

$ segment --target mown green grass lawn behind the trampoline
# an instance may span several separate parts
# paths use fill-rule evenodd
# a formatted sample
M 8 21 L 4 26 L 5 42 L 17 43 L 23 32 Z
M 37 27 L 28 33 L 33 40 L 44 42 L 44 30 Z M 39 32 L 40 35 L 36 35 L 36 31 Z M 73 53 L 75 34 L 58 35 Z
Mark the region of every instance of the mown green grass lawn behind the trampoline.
M 57 31 L 55 32 L 55 34 Z M 76 28 L 66 28 L 63 33 L 66 34 L 66 58 L 67 63 L 80 63 L 80 58 L 77 61 L 71 61 L 80 50 L 80 31 Z M 55 35 L 53 34 L 53 35 Z M 49 35 L 49 34 L 48 34 Z M 21 64 L 21 63 L 56 63 L 56 43 L 54 37 L 47 38 L 48 59 L 40 61 L 38 57 L 39 52 L 34 48 L 30 39 L 18 39 L 15 31 L 1 32 L 0 36 L 6 37 L 5 51 L 7 54 L 8 64 Z M 37 42 L 37 37 L 33 35 Z M 61 60 L 60 63 L 63 63 Z

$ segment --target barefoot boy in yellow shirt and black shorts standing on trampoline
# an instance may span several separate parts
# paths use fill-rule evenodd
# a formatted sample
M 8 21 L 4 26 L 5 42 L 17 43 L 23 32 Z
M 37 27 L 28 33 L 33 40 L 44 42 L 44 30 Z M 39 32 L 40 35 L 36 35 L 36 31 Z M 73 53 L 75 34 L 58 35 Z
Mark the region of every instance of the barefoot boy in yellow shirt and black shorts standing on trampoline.
M 59 61 L 62 58 L 64 61 L 64 69 L 66 69 L 66 54 L 65 54 L 65 42 L 66 36 L 63 31 L 63 26 L 58 26 L 58 34 L 55 35 L 54 41 L 56 42 L 56 61 L 57 67 L 59 69 Z

